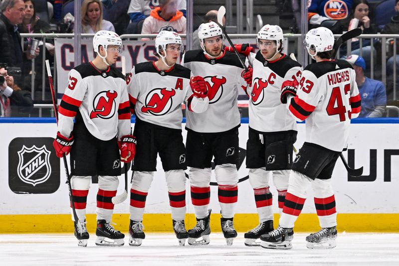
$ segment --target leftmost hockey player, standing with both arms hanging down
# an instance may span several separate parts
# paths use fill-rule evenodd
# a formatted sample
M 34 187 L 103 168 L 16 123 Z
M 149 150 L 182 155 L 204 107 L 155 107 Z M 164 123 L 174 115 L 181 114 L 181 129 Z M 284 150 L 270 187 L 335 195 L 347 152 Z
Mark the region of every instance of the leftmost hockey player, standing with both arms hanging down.
M 79 218 L 74 221 L 78 245 L 87 245 L 87 195 L 91 177 L 98 175 L 95 243 L 123 246 L 125 235 L 110 224 L 114 209 L 111 199 L 116 195 L 121 174 L 120 161 L 130 162 L 135 155 L 125 78 L 112 66 L 121 53 L 122 40 L 115 32 L 100 30 L 93 38 L 93 46 L 96 58 L 69 71 L 53 145 L 58 157 L 71 153 L 71 189 Z

